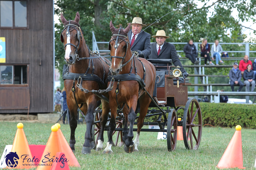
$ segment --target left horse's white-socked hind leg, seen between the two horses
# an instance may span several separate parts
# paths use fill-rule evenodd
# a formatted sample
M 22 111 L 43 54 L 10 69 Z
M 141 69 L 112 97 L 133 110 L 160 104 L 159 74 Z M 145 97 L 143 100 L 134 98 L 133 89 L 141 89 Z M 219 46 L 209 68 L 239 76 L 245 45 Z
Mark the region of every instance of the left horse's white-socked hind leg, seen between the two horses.
M 104 100 L 101 100 L 101 103 L 102 103 L 102 115 L 101 115 L 101 118 L 100 118 L 101 130 L 100 130 L 100 133 L 99 133 L 99 139 L 98 139 L 98 145 L 96 147 L 96 151 L 101 151 L 102 148 L 103 148 L 103 142 L 104 142 L 103 133 L 104 133 L 105 125 L 108 121 L 108 113 L 110 111 L 108 102 L 106 102 Z

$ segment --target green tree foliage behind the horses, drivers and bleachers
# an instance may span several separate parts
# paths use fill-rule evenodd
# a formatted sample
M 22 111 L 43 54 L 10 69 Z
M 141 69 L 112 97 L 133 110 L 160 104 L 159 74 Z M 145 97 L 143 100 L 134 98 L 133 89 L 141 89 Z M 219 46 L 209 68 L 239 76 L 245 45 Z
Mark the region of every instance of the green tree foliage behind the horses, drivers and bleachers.
M 208 42 L 213 42 L 215 39 L 219 39 L 220 42 L 244 41 L 243 28 L 239 25 L 238 20 L 231 16 L 231 11 L 237 8 L 239 19 L 242 21 L 253 19 L 255 22 L 253 16 L 256 14 L 256 6 L 253 4 L 256 4 L 256 0 L 250 0 L 249 2 L 246 0 L 217 1 L 214 4 L 212 2 L 208 3 L 208 1 L 199 1 L 205 3 L 202 8 L 198 8 L 196 2 L 192 0 L 189 1 L 189 10 L 186 11 L 188 9 L 188 5 L 184 6 L 184 4 L 188 4 L 186 0 L 57 0 L 55 2 L 55 13 L 58 16 L 63 13 L 64 17 L 69 20 L 74 19 L 76 12 L 79 11 L 79 23 L 90 48 L 92 48 L 92 31 L 95 31 L 97 41 L 108 41 L 110 39 L 110 20 L 112 20 L 115 27 L 123 25 L 125 28 L 126 23 L 131 22 L 133 17 L 141 17 L 143 23 L 150 25 L 166 13 L 182 6 L 184 7 L 171 12 L 151 25 L 146 32 L 153 35 L 156 34 L 157 30 L 163 29 L 170 36 L 168 42 L 188 42 L 189 39 L 200 42 L 205 37 L 208 38 Z M 216 12 L 207 18 L 210 7 L 214 8 Z M 186 12 L 181 13 L 183 11 Z M 168 20 L 170 21 L 167 23 Z M 56 24 L 55 29 L 55 64 L 61 71 L 64 64 L 63 43 L 60 41 L 63 24 Z M 231 31 L 231 35 L 227 33 L 228 30 Z M 249 40 L 249 42 L 251 41 L 253 40 Z M 151 38 L 151 42 L 155 42 L 155 39 Z M 183 44 L 176 45 L 176 49 L 183 50 L 183 46 Z M 101 44 L 100 48 L 107 49 L 107 46 Z M 244 50 L 244 46 L 225 45 L 223 49 Z M 250 46 L 250 49 L 256 50 L 255 45 Z M 185 56 L 184 53 L 180 55 Z M 236 54 L 235 57 L 242 57 L 242 55 L 242 53 Z M 218 71 L 226 73 L 225 69 L 213 69 L 206 73 L 211 74 Z M 193 70 L 190 73 L 192 72 Z

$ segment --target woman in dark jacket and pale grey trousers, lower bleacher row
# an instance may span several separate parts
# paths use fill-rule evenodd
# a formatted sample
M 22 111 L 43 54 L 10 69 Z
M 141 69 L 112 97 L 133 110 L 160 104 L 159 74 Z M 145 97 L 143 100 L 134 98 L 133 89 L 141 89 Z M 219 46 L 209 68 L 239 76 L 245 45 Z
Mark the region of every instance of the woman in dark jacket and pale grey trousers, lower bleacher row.
M 247 65 L 247 70 L 244 71 L 244 83 L 246 85 L 247 91 L 250 91 L 250 84 L 251 84 L 251 91 L 254 91 L 255 88 L 255 76 L 253 70 L 251 70 L 251 64 Z

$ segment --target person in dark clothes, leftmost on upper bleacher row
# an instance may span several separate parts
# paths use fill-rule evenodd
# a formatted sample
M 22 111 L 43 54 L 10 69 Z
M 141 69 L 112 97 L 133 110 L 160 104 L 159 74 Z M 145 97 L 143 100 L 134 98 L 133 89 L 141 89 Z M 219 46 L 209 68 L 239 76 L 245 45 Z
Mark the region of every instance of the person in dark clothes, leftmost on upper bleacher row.
M 196 60 L 197 52 L 192 39 L 190 39 L 189 42 L 184 46 L 183 51 L 186 53 L 186 58 L 188 58 L 192 63 L 200 63 L 199 60 Z

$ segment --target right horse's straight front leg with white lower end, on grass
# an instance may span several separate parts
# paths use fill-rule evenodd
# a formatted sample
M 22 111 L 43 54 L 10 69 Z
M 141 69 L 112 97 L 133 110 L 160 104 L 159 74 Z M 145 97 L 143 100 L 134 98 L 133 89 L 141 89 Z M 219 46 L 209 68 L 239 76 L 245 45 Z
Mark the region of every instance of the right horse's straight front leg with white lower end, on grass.
M 111 150 L 111 147 L 114 145 L 113 142 L 113 132 L 116 128 L 116 113 L 117 113 L 117 106 L 114 105 L 109 105 L 112 106 L 111 107 L 111 118 L 110 118 L 110 122 L 108 124 L 108 128 L 109 128 L 109 137 L 108 137 L 108 142 L 107 142 L 107 147 L 104 149 L 103 154 L 112 154 L 113 151 Z

